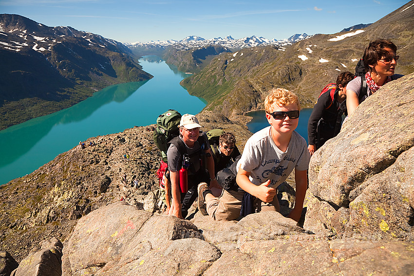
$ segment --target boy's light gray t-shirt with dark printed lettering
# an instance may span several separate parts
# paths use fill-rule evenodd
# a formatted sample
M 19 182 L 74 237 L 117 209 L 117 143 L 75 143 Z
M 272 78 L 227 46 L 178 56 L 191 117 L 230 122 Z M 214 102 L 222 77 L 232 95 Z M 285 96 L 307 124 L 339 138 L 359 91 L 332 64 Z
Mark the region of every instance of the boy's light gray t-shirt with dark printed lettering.
M 250 181 L 260 185 L 271 180 L 269 186 L 276 188 L 293 169 L 307 170 L 310 154 L 305 139 L 293 131 L 286 152 L 280 150 L 270 135 L 271 126 L 259 130 L 246 142 L 238 165 L 250 172 Z

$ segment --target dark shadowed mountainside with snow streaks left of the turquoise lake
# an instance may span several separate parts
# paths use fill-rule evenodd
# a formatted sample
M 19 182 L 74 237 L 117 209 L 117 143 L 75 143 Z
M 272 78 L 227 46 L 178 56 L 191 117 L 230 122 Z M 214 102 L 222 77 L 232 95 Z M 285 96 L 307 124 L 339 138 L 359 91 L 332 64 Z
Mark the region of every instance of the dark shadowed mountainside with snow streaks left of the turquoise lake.
M 122 43 L 0 14 L 0 129 L 68 108 L 112 84 L 152 76 Z

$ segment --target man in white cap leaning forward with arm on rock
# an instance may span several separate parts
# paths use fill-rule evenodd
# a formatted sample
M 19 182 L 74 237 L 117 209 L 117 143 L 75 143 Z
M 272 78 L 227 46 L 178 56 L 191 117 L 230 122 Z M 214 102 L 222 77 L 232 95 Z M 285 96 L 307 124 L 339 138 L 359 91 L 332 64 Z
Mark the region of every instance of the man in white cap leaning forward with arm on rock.
M 219 184 L 214 175 L 214 159 L 207 135 L 200 131 L 197 118 L 184 114 L 179 127 L 180 136 L 169 142 L 167 151 L 172 197 L 169 215 L 186 218 L 188 208 L 197 198 L 198 184 L 205 182 L 210 187 L 219 187 Z M 183 163 L 187 167 L 188 191 L 181 191 L 180 188 L 179 171 Z

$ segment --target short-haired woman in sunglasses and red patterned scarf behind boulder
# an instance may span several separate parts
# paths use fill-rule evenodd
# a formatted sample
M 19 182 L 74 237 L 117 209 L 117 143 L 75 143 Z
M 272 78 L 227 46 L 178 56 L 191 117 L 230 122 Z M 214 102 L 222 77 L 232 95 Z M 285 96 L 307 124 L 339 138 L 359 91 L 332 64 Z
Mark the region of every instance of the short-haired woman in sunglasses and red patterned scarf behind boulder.
M 346 107 L 348 116 L 351 115 L 367 97 L 375 93 L 381 86 L 395 80 L 402 75 L 395 73 L 395 66 L 399 58 L 396 55 L 397 47 L 390 40 L 377 39 L 371 41 L 365 49 L 362 60 L 364 61 L 364 76 L 356 77 L 346 86 Z M 361 91 L 364 80 L 368 87 L 366 94 Z M 364 93 L 361 94 L 360 93 Z

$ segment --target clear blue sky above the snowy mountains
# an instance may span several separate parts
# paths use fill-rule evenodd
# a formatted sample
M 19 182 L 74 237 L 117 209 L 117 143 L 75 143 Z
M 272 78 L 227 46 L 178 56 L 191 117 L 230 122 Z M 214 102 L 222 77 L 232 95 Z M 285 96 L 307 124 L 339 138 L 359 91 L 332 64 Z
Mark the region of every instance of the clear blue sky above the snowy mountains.
M 408 0 L 0 0 L 0 13 L 71 26 L 120 42 L 335 34 Z

